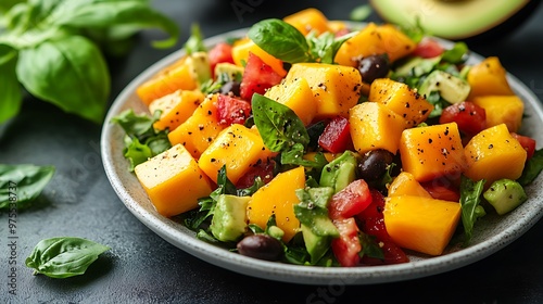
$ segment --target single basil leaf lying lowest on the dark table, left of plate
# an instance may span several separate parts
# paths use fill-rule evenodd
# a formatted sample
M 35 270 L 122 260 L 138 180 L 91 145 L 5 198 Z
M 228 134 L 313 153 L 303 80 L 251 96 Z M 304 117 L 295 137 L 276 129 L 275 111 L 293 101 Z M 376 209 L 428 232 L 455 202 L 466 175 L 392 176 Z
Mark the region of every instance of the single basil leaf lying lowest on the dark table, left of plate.
M 25 261 L 34 274 L 51 278 L 70 278 L 85 274 L 109 246 L 81 238 L 51 238 L 40 241 Z

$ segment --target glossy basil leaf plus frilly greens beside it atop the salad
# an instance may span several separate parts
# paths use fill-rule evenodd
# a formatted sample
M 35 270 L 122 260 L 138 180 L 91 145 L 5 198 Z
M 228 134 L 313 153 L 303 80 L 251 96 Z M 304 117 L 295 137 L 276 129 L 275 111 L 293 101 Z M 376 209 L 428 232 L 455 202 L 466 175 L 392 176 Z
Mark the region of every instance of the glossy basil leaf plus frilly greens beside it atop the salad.
M 332 33 L 316 36 L 314 33 L 305 37 L 294 26 L 277 18 L 269 18 L 254 24 L 248 36 L 256 46 L 288 63 L 320 62 L 333 63 L 333 58 L 341 45 L 356 31 L 341 37 Z

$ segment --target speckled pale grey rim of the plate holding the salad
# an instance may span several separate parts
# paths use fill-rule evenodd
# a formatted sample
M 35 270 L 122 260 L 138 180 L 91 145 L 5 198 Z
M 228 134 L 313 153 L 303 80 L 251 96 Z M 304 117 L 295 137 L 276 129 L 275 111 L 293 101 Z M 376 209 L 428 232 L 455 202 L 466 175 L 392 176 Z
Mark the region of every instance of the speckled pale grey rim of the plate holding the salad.
M 249 28 L 240 28 L 219 34 L 205 39 L 204 43 L 206 47 L 211 47 L 213 45 L 216 45 L 217 42 L 224 41 L 225 38 L 228 37 L 242 37 L 247 34 L 248 29 Z M 449 40 L 439 40 L 444 42 L 445 45 L 452 43 Z M 539 202 L 540 207 L 536 210 L 535 214 L 525 218 L 522 221 L 517 223 L 508 229 L 494 235 L 489 240 L 456 252 L 447 253 L 442 256 L 435 256 L 420 261 L 412 261 L 406 264 L 370 267 L 319 267 L 266 262 L 242 256 L 240 254 L 232 253 L 227 250 L 217 248 L 216 245 L 198 240 L 193 236 L 189 236 L 190 232 L 188 231 L 190 230 L 188 230 L 188 228 L 182 226 L 180 227 L 180 224 L 169 218 L 163 217 L 156 212 L 149 212 L 141 203 L 136 201 L 134 199 L 134 195 L 131 194 L 130 189 L 127 189 L 127 187 L 123 185 L 121 179 L 121 174 L 130 174 L 127 170 L 127 164 L 124 164 L 124 166 L 122 166 L 124 168 L 124 173 L 119 172 L 119 168 L 116 167 L 113 163 L 112 157 L 113 153 L 121 153 L 121 151 L 118 151 L 118 149 L 116 151 L 113 151 L 115 149 L 113 147 L 112 140 L 114 139 L 113 137 L 115 136 L 116 127 L 110 123 L 111 119 L 123 110 L 125 110 L 124 107 L 126 103 L 135 97 L 136 88 L 139 84 L 141 84 L 146 79 L 149 79 L 152 75 L 154 75 L 168 64 L 173 63 L 184 54 L 185 51 L 182 49 L 174 51 L 173 53 L 164 56 L 163 59 L 147 67 L 142 73 L 140 73 L 137 77 L 129 81 L 129 84 L 115 98 L 114 102 L 108 111 L 106 117 L 104 119 L 104 125 L 102 127 L 100 147 L 102 163 L 108 179 L 110 180 L 110 183 L 112 185 L 112 188 L 114 189 L 119 200 L 130 211 L 130 213 L 161 238 L 175 245 L 176 248 L 195 256 L 197 258 L 239 274 L 291 283 L 374 284 L 382 282 L 394 282 L 446 273 L 483 259 L 484 257 L 502 250 L 503 248 L 515 241 L 517 238 L 526 233 L 526 231 L 528 231 L 533 225 L 535 225 L 535 223 L 538 223 L 543 216 L 543 205 L 541 205 L 541 203 L 543 202 L 541 192 L 543 191 L 540 190 L 540 192 L 538 193 L 539 195 L 530 200 L 532 204 L 538 204 L 539 201 L 536 199 L 541 200 Z M 480 61 L 482 59 L 483 56 L 477 53 L 470 54 L 470 61 Z M 529 104 L 532 111 L 530 113 L 533 113 L 534 116 L 540 118 L 539 121 L 543 122 L 543 105 L 538 97 L 514 75 L 507 73 L 507 78 L 509 80 L 509 84 L 512 84 L 515 92 L 522 98 L 525 105 Z M 541 142 L 538 143 L 541 144 Z M 536 180 L 539 180 L 539 183 L 541 183 L 542 179 L 543 176 L 540 175 Z M 139 190 L 143 191 L 142 188 Z

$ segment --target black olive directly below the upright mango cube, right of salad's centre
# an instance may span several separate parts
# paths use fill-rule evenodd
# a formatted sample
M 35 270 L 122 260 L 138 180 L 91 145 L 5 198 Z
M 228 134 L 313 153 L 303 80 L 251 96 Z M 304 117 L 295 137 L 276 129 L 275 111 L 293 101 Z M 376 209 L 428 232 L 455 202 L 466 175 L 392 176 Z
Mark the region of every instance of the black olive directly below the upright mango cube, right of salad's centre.
M 387 150 L 369 151 L 358 161 L 358 177 L 367 182 L 380 180 L 393 162 L 394 154 Z

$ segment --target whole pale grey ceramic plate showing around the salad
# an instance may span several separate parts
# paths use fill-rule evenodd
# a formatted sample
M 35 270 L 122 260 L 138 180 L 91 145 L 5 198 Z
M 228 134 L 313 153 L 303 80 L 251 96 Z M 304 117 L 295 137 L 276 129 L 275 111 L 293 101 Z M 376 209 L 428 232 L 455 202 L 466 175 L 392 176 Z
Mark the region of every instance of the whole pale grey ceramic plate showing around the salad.
M 205 42 L 210 47 L 226 38 L 242 37 L 245 33 L 247 29 L 235 30 L 206 39 Z M 445 43 L 449 42 L 445 41 Z M 123 90 L 108 113 L 106 123 L 102 130 L 101 152 L 105 173 L 126 207 L 164 240 L 203 261 L 244 275 L 286 282 L 369 284 L 400 281 L 449 271 L 484 258 L 520 237 L 543 215 L 543 177 L 540 176 L 526 189 L 529 200 L 521 206 L 508 215 L 498 217 L 490 214 L 477 223 L 469 248 L 451 245 L 441 256 L 429 257 L 411 254 L 409 263 L 374 267 L 327 268 L 265 262 L 245 257 L 198 240 L 193 231 L 155 212 L 139 181 L 127 169 L 128 163 L 123 156 L 124 131 L 117 125 L 109 123 L 113 116 L 127 109 L 134 109 L 136 113 L 147 112 L 148 110 L 135 93 L 136 88 L 181 55 L 182 51 L 177 51 L 164 58 L 144 71 Z M 480 60 L 479 55 L 470 58 L 471 63 Z M 525 101 L 526 114 L 528 114 L 520 132 L 534 138 L 540 144 L 538 149 L 541 149 L 543 132 L 536 130 L 543 129 L 542 104 L 517 78 L 510 75 L 508 77 L 515 92 Z M 456 238 L 462 238 L 462 236 Z M 452 243 L 455 243 L 454 239 Z

